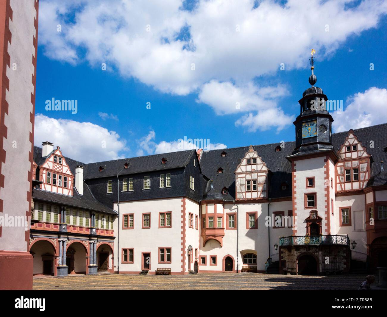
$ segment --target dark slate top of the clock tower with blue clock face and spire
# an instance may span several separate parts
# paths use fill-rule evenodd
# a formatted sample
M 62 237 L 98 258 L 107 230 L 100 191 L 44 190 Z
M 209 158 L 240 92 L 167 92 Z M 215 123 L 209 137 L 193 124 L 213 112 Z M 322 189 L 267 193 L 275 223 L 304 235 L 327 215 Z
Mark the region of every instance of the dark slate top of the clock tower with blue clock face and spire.
M 314 50 L 310 64 L 312 75 L 309 83 L 312 87 L 302 94 L 300 101 L 300 115 L 293 122 L 296 127 L 296 147 L 293 155 L 319 153 L 333 150 L 332 146 L 332 122 L 333 118 L 326 110 L 327 96 L 320 87 L 315 87 L 317 77 L 314 70 Z

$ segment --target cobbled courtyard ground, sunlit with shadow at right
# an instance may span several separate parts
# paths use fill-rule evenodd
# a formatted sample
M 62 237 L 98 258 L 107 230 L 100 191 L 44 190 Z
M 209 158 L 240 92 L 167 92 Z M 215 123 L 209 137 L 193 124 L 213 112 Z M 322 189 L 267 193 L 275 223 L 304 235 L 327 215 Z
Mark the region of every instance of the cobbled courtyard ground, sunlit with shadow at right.
M 34 279 L 34 290 L 357 290 L 365 276 L 259 273 L 69 276 Z M 372 286 L 376 286 L 377 281 Z

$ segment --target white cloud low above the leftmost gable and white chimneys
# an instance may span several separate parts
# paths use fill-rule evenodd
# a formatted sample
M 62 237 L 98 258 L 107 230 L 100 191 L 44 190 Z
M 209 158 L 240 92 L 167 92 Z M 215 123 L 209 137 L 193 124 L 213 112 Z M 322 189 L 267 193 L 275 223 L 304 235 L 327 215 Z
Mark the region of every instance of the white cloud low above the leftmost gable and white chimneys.
M 60 146 L 63 155 L 84 163 L 118 159 L 127 150 L 126 142 L 115 131 L 93 124 L 67 119 L 35 116 L 34 144 L 49 141 Z M 104 147 L 106 145 L 106 147 Z

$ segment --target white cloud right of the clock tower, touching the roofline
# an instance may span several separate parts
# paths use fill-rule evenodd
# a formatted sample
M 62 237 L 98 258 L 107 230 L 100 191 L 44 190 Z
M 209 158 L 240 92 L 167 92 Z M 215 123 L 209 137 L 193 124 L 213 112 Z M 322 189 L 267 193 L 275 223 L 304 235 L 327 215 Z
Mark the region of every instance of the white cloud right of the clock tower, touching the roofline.
M 387 122 L 387 89 L 371 87 L 347 98 L 345 110 L 334 113 L 334 132 L 359 129 Z

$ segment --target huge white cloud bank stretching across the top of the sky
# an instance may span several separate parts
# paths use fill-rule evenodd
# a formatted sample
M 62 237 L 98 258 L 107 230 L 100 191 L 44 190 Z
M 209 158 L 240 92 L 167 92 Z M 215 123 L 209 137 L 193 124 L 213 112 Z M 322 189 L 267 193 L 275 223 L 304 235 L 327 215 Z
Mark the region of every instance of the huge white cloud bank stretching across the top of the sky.
M 311 47 L 322 60 L 387 12 L 386 1 L 351 8 L 348 2 L 260 1 L 253 9 L 252 0 L 200 1 L 190 12 L 181 10 L 181 0 L 47 0 L 39 3 L 39 44 L 50 58 L 106 62 L 123 76 L 185 95 L 212 79 L 243 86 L 274 74 L 280 63 L 287 70 L 305 67 Z

